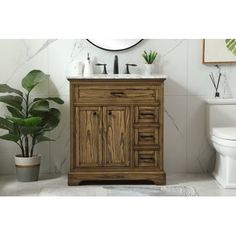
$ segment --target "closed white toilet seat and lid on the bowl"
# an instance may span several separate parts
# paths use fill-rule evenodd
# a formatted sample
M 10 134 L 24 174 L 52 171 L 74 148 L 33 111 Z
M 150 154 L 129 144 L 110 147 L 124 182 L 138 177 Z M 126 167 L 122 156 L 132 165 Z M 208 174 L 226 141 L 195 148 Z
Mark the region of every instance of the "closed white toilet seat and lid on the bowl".
M 219 145 L 236 147 L 236 127 L 213 128 L 211 140 Z

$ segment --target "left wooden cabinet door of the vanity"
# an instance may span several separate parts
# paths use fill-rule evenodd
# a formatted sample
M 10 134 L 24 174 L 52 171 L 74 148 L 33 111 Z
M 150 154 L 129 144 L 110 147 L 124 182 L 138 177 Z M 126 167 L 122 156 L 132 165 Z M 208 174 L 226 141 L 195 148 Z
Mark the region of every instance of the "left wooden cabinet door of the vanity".
M 76 107 L 76 167 L 102 164 L 101 116 L 100 107 Z

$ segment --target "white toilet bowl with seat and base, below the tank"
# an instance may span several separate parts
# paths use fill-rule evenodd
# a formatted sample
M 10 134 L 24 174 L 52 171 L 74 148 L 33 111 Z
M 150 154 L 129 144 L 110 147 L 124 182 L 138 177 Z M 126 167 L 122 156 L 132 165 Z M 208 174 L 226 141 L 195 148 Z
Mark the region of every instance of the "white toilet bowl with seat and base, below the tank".
M 224 188 L 236 188 L 236 127 L 213 128 L 211 141 L 216 150 L 213 176 Z

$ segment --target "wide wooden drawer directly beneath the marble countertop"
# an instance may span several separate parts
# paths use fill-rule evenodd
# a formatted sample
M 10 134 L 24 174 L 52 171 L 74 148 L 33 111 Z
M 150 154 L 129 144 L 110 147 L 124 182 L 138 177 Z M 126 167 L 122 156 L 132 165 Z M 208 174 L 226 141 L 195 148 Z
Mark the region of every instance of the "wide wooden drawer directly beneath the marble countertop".
M 159 89 L 155 86 L 78 86 L 74 87 L 75 103 L 123 103 L 159 101 Z

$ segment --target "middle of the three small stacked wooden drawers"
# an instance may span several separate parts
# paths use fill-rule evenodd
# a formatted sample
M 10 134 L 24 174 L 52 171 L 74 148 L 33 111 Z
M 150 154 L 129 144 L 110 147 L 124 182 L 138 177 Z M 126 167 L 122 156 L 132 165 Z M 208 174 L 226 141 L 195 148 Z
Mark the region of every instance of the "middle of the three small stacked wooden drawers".
M 136 128 L 135 145 L 158 145 L 158 129 L 157 128 Z

